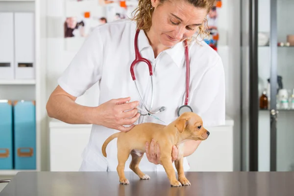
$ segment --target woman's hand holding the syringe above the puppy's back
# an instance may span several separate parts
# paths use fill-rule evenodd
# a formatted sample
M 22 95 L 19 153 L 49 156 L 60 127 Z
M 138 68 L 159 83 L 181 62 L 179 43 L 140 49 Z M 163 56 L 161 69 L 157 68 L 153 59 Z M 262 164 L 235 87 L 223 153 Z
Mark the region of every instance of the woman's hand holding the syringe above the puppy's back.
M 135 125 L 140 113 L 138 113 L 137 106 L 139 101 L 130 101 L 130 98 L 111 99 L 102 103 L 93 110 L 92 119 L 93 124 L 99 124 L 108 128 L 117 129 L 119 131 L 127 132 Z M 123 125 L 131 125 L 125 127 Z

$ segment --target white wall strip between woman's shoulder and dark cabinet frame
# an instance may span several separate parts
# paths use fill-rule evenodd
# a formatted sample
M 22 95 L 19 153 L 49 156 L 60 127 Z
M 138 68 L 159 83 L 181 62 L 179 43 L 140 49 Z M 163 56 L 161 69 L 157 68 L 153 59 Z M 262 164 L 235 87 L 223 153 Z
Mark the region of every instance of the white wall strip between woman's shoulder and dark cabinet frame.
M 240 78 L 240 0 L 221 0 L 218 52 L 223 61 L 226 88 L 226 114 L 234 120 L 234 170 L 241 165 L 241 78 Z

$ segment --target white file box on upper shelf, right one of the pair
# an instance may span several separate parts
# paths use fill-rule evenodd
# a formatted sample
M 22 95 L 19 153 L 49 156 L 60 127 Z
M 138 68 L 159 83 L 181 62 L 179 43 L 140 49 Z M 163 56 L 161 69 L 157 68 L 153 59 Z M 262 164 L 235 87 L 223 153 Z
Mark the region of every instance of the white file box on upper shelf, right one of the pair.
M 15 26 L 15 79 L 35 79 L 34 14 L 16 12 Z

